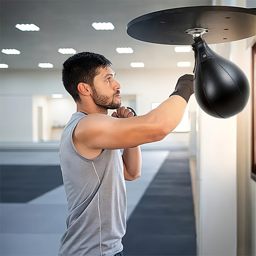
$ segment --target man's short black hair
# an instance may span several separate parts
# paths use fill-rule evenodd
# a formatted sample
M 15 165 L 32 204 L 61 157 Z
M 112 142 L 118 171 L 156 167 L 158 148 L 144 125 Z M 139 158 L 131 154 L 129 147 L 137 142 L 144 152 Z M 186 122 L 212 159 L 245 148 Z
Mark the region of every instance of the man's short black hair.
M 112 63 L 103 55 L 93 52 L 79 52 L 70 56 L 62 66 L 62 83 L 76 102 L 81 102 L 77 85 L 86 83 L 93 87 L 94 77 L 100 68 Z M 93 87 L 94 89 L 94 87 Z

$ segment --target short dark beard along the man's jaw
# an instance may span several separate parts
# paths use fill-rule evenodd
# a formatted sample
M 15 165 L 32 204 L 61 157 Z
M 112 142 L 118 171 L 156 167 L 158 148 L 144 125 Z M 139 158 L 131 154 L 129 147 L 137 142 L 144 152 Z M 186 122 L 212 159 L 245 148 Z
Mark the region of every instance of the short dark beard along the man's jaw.
M 93 91 L 92 99 L 100 110 L 117 109 L 121 106 L 121 101 L 119 100 L 118 102 L 116 102 L 115 100 L 115 96 L 117 94 L 120 94 L 119 91 L 112 96 L 101 94 L 100 92 L 97 92 L 95 89 L 92 89 L 92 91 Z

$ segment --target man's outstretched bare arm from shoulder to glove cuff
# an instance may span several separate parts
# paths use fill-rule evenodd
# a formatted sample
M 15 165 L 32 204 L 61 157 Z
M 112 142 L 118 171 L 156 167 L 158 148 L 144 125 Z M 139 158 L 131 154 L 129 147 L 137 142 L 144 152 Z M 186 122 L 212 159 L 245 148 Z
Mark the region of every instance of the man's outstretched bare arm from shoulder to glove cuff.
M 180 123 L 186 100 L 174 95 L 143 116 L 115 118 L 102 114 L 84 117 L 74 136 L 89 148 L 121 149 L 163 140 Z

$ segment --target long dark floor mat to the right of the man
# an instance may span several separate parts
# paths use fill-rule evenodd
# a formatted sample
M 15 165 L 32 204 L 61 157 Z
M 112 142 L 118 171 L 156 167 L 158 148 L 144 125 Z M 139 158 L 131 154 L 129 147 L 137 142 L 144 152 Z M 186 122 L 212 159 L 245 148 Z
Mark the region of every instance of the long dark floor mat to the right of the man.
M 125 256 L 196 255 L 188 159 L 167 157 L 130 216 L 122 243 Z

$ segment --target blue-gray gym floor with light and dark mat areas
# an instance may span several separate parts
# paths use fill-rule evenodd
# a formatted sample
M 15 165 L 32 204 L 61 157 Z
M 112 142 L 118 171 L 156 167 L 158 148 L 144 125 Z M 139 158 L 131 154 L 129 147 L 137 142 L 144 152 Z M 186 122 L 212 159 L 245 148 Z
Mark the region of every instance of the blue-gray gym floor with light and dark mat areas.
M 141 177 L 126 181 L 124 255 L 196 255 L 188 152 L 142 150 Z M 59 152 L 1 152 L 2 256 L 57 256 L 66 229 Z

